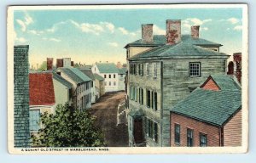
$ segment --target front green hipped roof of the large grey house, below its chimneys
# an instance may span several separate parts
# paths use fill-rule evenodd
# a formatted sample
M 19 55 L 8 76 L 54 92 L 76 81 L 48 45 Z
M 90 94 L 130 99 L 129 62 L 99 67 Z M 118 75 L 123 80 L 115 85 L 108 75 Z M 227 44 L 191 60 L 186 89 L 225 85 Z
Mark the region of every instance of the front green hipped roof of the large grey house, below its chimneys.
M 156 58 L 156 59 L 164 59 L 164 58 L 175 58 L 175 57 L 188 57 L 188 56 L 220 56 L 228 58 L 228 54 L 218 53 L 216 51 L 201 48 L 195 46 L 189 42 L 180 42 L 173 45 L 163 45 L 157 48 L 151 48 L 143 53 L 138 53 L 131 57 L 132 59 L 148 59 L 148 58 Z

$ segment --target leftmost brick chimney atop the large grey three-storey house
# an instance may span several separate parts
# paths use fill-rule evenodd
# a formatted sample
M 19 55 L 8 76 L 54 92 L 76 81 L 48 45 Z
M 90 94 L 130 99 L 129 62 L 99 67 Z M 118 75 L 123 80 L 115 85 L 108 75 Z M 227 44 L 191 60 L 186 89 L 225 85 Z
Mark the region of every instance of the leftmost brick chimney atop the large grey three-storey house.
M 153 42 L 153 24 L 142 25 L 142 40 L 145 43 Z

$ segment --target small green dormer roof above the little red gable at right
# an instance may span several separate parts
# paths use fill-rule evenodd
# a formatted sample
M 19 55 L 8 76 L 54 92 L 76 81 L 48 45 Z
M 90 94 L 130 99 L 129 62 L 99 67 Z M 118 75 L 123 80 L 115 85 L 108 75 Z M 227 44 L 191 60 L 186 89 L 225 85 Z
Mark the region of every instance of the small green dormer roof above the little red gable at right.
M 212 78 L 212 80 L 217 84 L 220 90 L 241 90 L 241 87 L 235 82 L 232 76 L 226 75 L 215 75 L 209 76 L 208 79 Z M 207 81 L 208 81 L 207 79 Z M 203 87 L 206 83 L 204 82 L 201 87 Z

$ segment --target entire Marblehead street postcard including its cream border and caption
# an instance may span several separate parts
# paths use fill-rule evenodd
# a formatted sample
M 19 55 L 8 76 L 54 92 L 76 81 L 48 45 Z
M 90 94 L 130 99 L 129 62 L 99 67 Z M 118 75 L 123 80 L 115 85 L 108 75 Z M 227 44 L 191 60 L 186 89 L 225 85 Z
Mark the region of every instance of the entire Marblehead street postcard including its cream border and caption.
M 9 153 L 247 152 L 247 12 L 9 6 Z

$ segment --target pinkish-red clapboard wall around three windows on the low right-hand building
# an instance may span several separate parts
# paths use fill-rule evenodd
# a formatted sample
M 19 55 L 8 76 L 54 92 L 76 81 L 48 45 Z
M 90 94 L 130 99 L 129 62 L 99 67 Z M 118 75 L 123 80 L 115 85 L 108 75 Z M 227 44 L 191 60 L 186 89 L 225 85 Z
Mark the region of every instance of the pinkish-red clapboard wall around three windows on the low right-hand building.
M 207 134 L 207 146 L 217 147 L 219 146 L 219 131 L 218 126 L 212 126 L 202 121 L 196 121 L 192 118 L 177 115 L 175 113 L 171 114 L 172 125 L 171 125 L 171 146 L 173 147 L 186 147 L 187 146 L 187 129 L 193 130 L 193 146 L 200 146 L 200 133 Z M 174 126 L 175 124 L 180 125 L 180 144 L 174 141 Z

